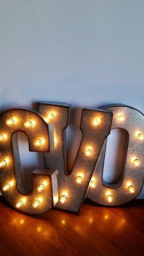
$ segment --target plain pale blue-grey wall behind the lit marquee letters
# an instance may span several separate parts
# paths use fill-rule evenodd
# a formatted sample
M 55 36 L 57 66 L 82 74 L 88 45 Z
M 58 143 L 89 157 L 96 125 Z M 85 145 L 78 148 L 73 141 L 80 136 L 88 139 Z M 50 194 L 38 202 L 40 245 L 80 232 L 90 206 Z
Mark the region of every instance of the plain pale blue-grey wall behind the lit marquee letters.
M 83 106 L 144 112 L 143 45 L 143 0 L 0 0 L 0 109 L 73 104 L 73 159 Z M 43 166 L 29 154 L 30 169 Z

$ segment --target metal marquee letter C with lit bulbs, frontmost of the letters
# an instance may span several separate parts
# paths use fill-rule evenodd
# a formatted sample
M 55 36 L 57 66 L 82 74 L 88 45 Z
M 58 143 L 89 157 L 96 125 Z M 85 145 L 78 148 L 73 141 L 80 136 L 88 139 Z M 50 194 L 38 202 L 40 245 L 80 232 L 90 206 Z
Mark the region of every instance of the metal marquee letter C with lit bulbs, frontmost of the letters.
M 30 151 L 49 152 L 52 150 L 52 140 L 49 139 L 53 136 L 52 125 L 48 126 L 38 112 L 12 109 L 1 114 L 0 189 L 7 202 L 16 210 L 27 214 L 45 213 L 53 205 L 52 191 L 57 189 L 57 180 L 56 177 L 54 178 L 56 174 L 49 170 L 46 170 L 45 174 L 34 172 L 32 174 L 33 189 L 31 194 L 27 195 L 21 180 L 20 155 L 15 136 L 18 131 L 27 135 Z M 54 183 L 53 187 L 51 180 Z M 41 186 L 43 189 L 38 191 L 38 186 L 41 184 L 44 185 Z M 35 201 L 37 201 L 36 205 L 34 205 Z

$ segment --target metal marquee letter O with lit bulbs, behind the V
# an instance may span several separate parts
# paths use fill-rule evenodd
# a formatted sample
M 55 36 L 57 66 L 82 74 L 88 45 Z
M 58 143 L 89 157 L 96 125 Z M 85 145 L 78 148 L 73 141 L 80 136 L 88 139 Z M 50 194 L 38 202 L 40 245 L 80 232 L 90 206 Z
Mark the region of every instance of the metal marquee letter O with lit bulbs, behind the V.
M 126 130 L 129 134 L 123 180 L 117 188 L 112 188 L 112 185 L 103 183 L 102 177 L 106 140 L 92 177 L 92 180 L 96 182 L 96 186 L 95 188 L 89 186 L 87 197 L 101 205 L 122 205 L 135 199 L 143 186 L 144 116 L 137 109 L 124 105 L 106 106 L 104 109 L 113 111 L 112 129 L 121 128 Z M 139 134 L 141 134 L 140 137 L 138 136 Z M 135 162 L 135 159 L 138 159 L 138 161 Z M 131 189 L 129 189 L 129 187 L 131 187 Z M 109 195 L 112 196 L 110 200 L 107 198 Z

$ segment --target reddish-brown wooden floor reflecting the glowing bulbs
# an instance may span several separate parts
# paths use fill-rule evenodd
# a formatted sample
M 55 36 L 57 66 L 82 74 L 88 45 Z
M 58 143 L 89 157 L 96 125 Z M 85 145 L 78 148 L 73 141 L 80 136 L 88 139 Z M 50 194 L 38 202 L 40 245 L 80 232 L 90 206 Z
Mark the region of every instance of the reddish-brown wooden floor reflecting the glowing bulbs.
M 144 255 L 144 200 L 118 208 L 85 200 L 79 215 L 27 216 L 0 197 L 0 255 Z

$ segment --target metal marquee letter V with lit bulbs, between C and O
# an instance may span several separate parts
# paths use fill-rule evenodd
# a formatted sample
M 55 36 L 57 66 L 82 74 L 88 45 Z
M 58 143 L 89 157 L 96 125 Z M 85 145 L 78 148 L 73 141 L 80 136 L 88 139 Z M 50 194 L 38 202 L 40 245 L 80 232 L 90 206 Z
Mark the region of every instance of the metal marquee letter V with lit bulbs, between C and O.
M 54 125 L 56 144 L 53 152 L 45 153 L 45 167 L 58 172 L 59 202 L 56 204 L 56 208 L 77 213 L 85 198 L 103 142 L 110 133 L 112 112 L 103 109 L 84 108 L 82 110 L 81 131 L 83 137 L 70 173 L 65 170 L 67 166 L 65 142 L 63 141 L 63 132 L 68 125 L 70 105 L 39 103 L 38 111 L 42 112 L 46 118 L 51 117 L 51 122 Z M 99 120 L 98 123 L 96 123 L 96 119 Z M 49 119 L 47 122 L 50 122 Z M 89 153 L 88 150 L 90 150 Z M 67 175 L 68 173 L 70 175 Z

